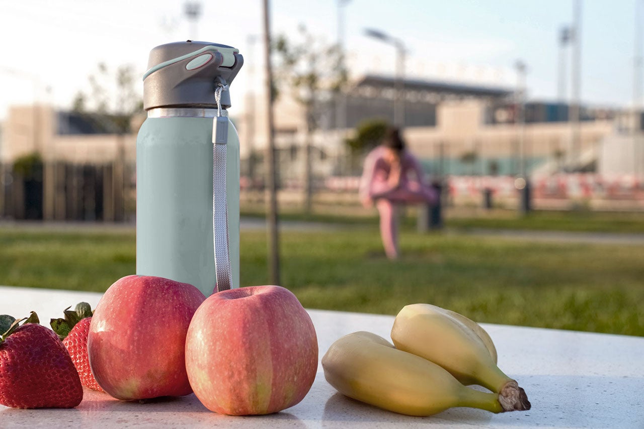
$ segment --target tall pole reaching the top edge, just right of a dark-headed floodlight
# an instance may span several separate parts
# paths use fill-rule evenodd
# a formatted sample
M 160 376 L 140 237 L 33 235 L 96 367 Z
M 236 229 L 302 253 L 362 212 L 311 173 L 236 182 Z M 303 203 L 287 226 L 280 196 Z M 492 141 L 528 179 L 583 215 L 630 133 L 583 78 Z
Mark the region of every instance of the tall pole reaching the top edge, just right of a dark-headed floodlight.
M 569 150 L 569 167 L 574 169 L 579 162 L 581 150 L 581 87 L 582 87 L 582 0 L 574 0 L 573 10 L 573 60 L 571 64 L 571 84 L 573 99 L 570 106 L 571 145 Z

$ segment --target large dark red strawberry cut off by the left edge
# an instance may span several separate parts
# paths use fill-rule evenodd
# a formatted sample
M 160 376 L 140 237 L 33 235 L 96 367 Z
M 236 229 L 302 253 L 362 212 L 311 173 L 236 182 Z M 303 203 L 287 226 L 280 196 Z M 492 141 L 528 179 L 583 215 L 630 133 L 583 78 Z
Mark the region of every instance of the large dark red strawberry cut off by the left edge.
M 0 404 L 14 408 L 72 408 L 82 401 L 79 374 L 61 340 L 25 319 L 0 316 Z

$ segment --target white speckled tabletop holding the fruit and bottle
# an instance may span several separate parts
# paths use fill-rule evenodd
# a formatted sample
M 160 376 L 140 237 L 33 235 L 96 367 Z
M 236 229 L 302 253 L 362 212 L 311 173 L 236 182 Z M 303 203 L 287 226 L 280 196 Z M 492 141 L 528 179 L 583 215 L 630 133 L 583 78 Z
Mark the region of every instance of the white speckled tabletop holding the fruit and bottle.
M 41 322 L 78 302 L 95 307 L 99 293 L 0 286 L 0 314 Z M 332 342 L 354 331 L 388 338 L 393 316 L 309 310 L 320 357 Z M 17 410 L 0 405 L 0 427 L 199 428 L 644 428 L 644 338 L 483 325 L 497 345 L 498 365 L 525 388 L 526 412 L 492 414 L 451 408 L 431 417 L 408 417 L 347 399 L 328 385 L 319 366 L 307 397 L 278 414 L 230 417 L 207 410 L 194 395 L 151 403 L 123 402 L 86 389 L 68 410 Z

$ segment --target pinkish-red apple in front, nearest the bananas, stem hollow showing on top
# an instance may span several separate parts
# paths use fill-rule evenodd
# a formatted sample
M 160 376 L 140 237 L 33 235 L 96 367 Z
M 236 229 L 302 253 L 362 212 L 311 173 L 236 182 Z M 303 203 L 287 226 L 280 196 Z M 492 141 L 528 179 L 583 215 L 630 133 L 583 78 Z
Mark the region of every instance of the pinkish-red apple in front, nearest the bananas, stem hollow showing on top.
M 252 286 L 211 295 L 185 339 L 194 394 L 220 414 L 270 414 L 296 405 L 317 372 L 317 337 L 288 289 Z

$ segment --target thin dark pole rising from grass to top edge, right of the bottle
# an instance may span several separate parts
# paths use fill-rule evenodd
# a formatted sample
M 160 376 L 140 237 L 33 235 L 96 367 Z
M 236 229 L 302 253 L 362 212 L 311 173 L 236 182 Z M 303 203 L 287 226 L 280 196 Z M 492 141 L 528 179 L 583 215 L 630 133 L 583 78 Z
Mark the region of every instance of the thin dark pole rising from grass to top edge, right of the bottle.
M 269 280 L 279 284 L 278 200 L 275 178 L 275 127 L 273 123 L 273 71 L 270 62 L 270 10 L 269 0 L 262 2 L 264 24 L 264 91 L 266 92 L 266 201 L 267 235 L 269 251 Z

